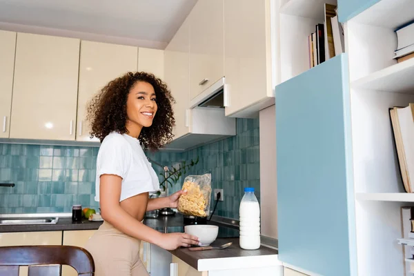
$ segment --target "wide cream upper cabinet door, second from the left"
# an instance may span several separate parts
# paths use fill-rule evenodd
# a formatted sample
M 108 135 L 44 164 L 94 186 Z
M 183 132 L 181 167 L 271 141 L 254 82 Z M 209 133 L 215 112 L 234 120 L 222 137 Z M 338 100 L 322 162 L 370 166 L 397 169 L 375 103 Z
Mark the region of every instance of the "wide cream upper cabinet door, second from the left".
M 79 44 L 17 33 L 10 138 L 75 140 Z

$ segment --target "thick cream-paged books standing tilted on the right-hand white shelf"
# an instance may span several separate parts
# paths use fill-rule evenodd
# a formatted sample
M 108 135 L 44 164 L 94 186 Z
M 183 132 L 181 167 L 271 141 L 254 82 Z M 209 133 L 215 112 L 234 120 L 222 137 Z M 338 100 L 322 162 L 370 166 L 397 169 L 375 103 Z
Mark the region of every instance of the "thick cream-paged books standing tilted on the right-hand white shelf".
M 389 112 L 404 190 L 414 193 L 414 103 Z

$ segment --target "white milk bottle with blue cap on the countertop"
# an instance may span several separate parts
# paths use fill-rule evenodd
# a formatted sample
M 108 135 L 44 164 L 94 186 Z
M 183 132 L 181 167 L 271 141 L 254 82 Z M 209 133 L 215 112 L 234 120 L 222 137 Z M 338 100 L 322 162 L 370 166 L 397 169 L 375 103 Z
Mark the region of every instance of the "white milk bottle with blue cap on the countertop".
M 257 249 L 260 247 L 260 208 L 255 197 L 255 188 L 244 188 L 244 196 L 240 202 L 240 247 Z

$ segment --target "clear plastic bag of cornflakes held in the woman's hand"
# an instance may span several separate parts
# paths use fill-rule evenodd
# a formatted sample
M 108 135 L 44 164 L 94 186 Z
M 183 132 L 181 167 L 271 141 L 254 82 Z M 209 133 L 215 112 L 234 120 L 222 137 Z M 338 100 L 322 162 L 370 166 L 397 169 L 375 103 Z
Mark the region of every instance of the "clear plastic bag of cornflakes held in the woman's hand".
M 211 174 L 189 175 L 184 179 L 181 190 L 187 190 L 186 195 L 178 199 L 177 209 L 184 215 L 208 217 L 210 213 Z

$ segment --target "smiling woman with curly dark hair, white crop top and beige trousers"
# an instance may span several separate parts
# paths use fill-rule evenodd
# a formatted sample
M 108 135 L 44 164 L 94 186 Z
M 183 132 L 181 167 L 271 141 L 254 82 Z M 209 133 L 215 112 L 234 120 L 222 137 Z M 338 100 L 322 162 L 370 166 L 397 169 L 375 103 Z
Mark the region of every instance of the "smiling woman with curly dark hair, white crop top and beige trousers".
M 139 259 L 139 244 L 166 250 L 199 244 L 184 233 L 163 234 L 142 224 L 146 211 L 177 208 L 184 191 L 148 199 L 159 188 L 144 148 L 157 150 L 172 137 L 173 101 L 166 84 L 146 72 L 128 72 L 110 81 L 88 106 L 91 136 L 99 138 L 96 196 L 104 221 L 85 248 L 97 276 L 148 275 Z

